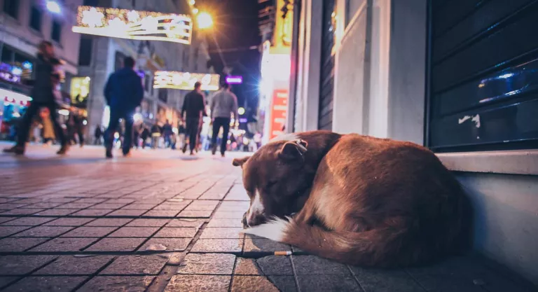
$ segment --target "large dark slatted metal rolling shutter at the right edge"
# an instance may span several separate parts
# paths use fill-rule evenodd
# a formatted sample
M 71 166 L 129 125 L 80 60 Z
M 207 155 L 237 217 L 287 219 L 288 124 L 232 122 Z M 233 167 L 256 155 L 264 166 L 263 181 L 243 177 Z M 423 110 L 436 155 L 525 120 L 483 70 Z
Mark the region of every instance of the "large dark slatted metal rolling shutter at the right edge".
M 427 146 L 536 148 L 538 1 L 429 1 Z

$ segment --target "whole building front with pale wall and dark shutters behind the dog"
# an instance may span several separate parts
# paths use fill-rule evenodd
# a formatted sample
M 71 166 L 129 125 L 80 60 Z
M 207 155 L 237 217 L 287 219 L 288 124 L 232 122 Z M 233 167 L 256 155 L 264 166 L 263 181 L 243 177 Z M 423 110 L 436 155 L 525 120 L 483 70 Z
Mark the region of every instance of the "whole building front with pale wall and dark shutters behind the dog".
M 287 132 L 431 148 L 471 197 L 476 251 L 538 284 L 537 8 L 295 1 Z

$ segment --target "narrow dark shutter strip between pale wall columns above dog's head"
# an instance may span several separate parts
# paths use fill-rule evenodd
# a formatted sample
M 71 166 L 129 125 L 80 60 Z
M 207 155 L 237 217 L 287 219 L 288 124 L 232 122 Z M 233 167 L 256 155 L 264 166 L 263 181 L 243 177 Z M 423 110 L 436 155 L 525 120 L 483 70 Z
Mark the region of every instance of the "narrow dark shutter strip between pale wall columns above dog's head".
M 322 68 L 319 81 L 319 130 L 333 128 L 333 88 L 334 88 L 334 14 L 335 0 L 323 0 L 322 25 Z

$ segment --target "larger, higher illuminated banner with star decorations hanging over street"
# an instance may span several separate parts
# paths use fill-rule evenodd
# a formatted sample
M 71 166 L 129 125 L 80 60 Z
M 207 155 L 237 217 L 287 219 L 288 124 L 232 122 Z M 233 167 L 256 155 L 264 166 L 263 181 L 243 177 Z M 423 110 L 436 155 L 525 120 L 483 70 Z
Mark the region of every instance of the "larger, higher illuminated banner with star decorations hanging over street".
M 188 15 L 78 6 L 72 30 L 120 39 L 190 44 L 193 21 Z

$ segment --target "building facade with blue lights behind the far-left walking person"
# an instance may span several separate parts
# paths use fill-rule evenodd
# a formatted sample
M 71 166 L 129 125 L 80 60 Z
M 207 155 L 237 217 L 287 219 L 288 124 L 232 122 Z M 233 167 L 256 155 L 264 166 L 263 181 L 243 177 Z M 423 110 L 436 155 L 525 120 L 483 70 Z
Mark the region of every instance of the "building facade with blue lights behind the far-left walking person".
M 47 40 L 53 43 L 58 57 L 64 61 L 65 80 L 62 95 L 69 99 L 71 79 L 78 74 L 80 35 L 71 32 L 76 7 L 82 0 L 60 3 L 60 11 L 50 11 L 46 1 L 0 1 L 0 135 L 5 137 L 9 125 L 15 123 L 31 102 L 30 88 L 24 79 L 34 77 L 37 46 Z

